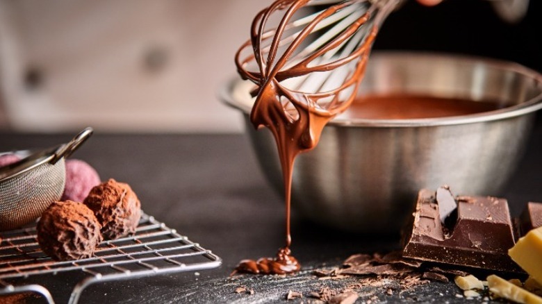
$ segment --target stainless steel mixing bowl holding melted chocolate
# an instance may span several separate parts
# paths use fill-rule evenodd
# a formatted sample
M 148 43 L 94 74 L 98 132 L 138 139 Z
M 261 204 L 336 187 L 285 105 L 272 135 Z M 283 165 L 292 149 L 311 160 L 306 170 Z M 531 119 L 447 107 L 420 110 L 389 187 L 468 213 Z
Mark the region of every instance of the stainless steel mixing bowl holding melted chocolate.
M 251 84 L 220 92 L 243 112 L 263 173 L 282 191 L 277 148 L 248 114 Z M 498 195 L 518 163 L 542 108 L 542 76 L 511 62 L 433 53 L 373 53 L 360 92 L 407 93 L 509 104 L 476 115 L 434 119 L 337 117 L 318 146 L 299 155 L 293 206 L 314 221 L 363 233 L 397 233 L 421 188 Z

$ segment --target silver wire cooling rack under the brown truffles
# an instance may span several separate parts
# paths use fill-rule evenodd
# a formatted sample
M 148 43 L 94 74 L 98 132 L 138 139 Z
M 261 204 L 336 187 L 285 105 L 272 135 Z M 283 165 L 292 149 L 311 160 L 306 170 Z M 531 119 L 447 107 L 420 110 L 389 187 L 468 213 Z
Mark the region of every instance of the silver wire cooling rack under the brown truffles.
M 94 256 L 83 260 L 52 260 L 41 251 L 35 226 L 1 232 L 0 237 L 0 295 L 33 292 L 49 303 L 54 303 L 51 293 L 32 284 L 33 278 L 83 274 L 69 298 L 69 303 L 77 303 L 83 289 L 96 282 L 198 271 L 222 263 L 211 251 L 147 214 L 142 215 L 135 235 L 101 242 Z

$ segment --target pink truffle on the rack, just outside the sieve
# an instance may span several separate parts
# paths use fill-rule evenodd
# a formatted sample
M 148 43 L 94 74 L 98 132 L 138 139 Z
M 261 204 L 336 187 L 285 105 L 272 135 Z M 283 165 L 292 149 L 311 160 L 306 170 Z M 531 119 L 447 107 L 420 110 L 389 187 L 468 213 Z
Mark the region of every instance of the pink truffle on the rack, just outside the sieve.
M 83 160 L 66 160 L 66 185 L 60 201 L 82 202 L 101 183 L 97 171 Z

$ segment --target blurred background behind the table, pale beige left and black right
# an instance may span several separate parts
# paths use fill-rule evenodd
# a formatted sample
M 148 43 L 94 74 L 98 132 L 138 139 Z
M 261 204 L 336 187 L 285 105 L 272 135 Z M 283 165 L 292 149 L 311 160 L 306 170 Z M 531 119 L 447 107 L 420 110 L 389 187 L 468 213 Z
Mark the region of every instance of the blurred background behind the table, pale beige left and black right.
M 375 49 L 465 53 L 542 71 L 541 1 L 519 0 L 529 5 L 519 17 L 493 2 L 408 0 Z M 233 55 L 269 3 L 0 0 L 0 130 L 241 132 L 239 113 L 217 90 L 237 75 Z

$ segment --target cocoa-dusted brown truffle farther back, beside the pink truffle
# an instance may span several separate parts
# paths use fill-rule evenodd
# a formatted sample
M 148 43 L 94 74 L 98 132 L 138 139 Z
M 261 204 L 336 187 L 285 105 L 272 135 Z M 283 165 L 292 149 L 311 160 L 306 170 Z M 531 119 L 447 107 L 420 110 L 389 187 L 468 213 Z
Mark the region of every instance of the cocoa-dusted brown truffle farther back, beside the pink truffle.
M 136 232 L 141 203 L 128 184 L 110 178 L 92 188 L 83 203 L 96 215 L 102 226 L 101 234 L 106 239 Z

